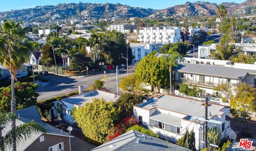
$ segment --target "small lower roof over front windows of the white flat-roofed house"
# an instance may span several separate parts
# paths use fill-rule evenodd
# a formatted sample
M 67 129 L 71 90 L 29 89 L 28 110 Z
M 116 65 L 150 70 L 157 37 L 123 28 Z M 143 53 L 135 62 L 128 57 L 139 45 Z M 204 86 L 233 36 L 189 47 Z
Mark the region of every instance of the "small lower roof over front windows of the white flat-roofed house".
M 181 127 L 181 119 L 177 116 L 172 116 L 170 114 L 164 114 L 161 112 L 154 112 L 149 119 L 156 120 L 158 122 L 163 122 L 173 126 Z

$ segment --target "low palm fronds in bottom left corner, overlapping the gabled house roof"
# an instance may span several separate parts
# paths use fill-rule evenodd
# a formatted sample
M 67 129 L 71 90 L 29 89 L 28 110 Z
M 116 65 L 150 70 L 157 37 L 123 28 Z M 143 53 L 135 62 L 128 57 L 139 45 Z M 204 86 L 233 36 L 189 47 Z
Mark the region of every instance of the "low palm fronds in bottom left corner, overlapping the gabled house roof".
M 10 122 L 16 120 L 16 116 L 12 112 L 0 113 L 0 127 L 6 127 Z M 25 141 L 28 137 L 31 137 L 32 134 L 45 133 L 45 129 L 36 122 L 27 122 L 20 126 L 12 128 L 10 131 L 6 132 L 6 135 L 2 136 L 2 129 L 0 129 L 0 149 L 4 151 L 6 147 L 9 147 L 13 144 L 13 139 L 18 143 Z M 15 146 L 16 147 L 16 146 Z M 13 150 L 16 151 L 16 148 Z

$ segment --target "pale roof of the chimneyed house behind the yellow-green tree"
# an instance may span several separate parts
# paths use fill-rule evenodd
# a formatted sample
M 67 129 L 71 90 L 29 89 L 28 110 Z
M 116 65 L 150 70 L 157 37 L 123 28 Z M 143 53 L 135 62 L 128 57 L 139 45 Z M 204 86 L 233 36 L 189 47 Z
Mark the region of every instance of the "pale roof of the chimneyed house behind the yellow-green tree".
M 88 102 L 92 102 L 94 98 L 104 98 L 107 102 L 113 101 L 116 102 L 120 95 L 114 94 L 112 92 L 106 92 L 104 90 L 92 90 L 88 92 L 84 92 L 82 94 L 77 94 L 74 96 L 70 96 L 67 98 L 60 99 L 61 101 L 65 101 L 71 104 L 76 104 L 79 106 L 84 106 L 84 104 Z

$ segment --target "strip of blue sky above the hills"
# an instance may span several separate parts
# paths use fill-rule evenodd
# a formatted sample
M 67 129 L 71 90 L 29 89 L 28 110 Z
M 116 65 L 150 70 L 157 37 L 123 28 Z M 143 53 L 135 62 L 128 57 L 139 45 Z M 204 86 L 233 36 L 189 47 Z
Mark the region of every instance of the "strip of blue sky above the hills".
M 5 12 L 9 10 L 21 10 L 25 8 L 32 8 L 34 6 L 44 6 L 44 5 L 57 5 L 60 3 L 79 3 L 79 2 L 90 2 L 90 3 L 120 3 L 129 6 L 138 6 L 142 8 L 153 8 L 153 9 L 164 9 L 172 7 L 178 4 L 185 4 L 186 2 L 197 2 L 207 0 L 1 0 L 0 2 L 0 12 Z M 208 0 L 209 1 L 209 0 Z M 216 4 L 221 4 L 222 2 L 236 2 L 242 3 L 246 0 L 214 0 Z

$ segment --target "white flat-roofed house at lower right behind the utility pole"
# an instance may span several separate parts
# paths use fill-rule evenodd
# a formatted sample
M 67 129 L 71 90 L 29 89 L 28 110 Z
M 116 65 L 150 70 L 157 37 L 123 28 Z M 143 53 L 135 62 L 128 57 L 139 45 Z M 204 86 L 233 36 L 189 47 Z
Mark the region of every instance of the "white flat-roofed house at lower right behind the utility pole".
M 184 135 L 186 129 L 193 131 L 196 150 L 203 149 L 205 105 L 203 101 L 163 95 L 154 97 L 133 107 L 134 116 L 148 129 L 160 137 L 166 136 L 169 141 L 176 142 Z M 218 127 L 221 138 L 230 136 L 236 139 L 236 133 L 230 128 L 230 107 L 209 104 L 207 118 L 208 127 Z M 218 123 L 218 124 L 217 124 Z

